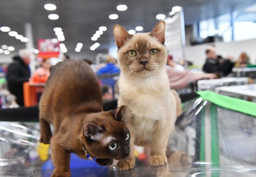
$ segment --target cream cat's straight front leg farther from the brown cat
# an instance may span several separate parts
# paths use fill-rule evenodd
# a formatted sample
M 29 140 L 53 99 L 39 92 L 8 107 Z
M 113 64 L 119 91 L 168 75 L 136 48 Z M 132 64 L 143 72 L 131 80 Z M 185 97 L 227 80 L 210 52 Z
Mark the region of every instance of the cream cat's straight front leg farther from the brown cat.
M 151 152 L 149 157 L 149 163 L 152 166 L 164 165 L 167 163 L 166 147 L 168 144 L 168 137 L 170 133 L 170 127 L 167 126 L 167 122 L 158 121 L 155 126 L 151 145 Z

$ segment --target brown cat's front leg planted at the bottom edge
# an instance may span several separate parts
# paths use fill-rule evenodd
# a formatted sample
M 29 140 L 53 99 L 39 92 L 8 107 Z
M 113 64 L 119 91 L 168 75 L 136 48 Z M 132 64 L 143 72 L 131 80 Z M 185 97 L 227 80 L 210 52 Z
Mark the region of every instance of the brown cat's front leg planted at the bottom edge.
M 52 177 L 71 177 L 69 169 L 70 152 L 59 145 L 56 135 L 51 140 L 51 146 L 52 161 L 54 164 Z

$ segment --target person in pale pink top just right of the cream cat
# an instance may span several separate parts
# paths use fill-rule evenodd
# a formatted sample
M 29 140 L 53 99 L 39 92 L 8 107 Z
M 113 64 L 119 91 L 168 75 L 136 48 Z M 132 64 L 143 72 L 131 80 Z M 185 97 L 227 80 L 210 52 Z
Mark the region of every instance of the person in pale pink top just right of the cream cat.
M 170 58 L 168 58 L 169 60 Z M 176 70 L 174 67 L 169 65 L 170 62 L 167 60 L 166 70 L 169 78 L 170 88 L 181 89 L 185 88 L 190 82 L 195 82 L 200 79 L 214 79 L 215 74 L 203 73 L 203 72 L 192 72 L 191 70 Z

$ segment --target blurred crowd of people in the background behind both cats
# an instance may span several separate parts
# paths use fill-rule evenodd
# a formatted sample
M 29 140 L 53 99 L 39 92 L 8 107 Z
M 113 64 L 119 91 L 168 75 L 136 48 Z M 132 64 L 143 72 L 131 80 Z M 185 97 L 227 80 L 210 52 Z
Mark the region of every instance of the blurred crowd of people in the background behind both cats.
M 7 88 L 11 94 L 16 96 L 16 102 L 20 106 L 24 106 L 23 83 L 29 82 L 33 84 L 43 84 L 50 76 L 50 70 L 53 67 L 49 59 L 38 58 L 38 66 L 33 73 L 31 73 L 29 64 L 32 52 L 27 49 L 19 51 L 19 55 L 13 57 L 13 63 L 8 67 L 0 68 L 0 73 L 5 73 L 7 80 Z M 203 55 L 203 54 L 202 54 Z M 166 70 L 168 73 L 170 88 L 179 90 L 186 88 L 190 83 L 196 82 L 201 79 L 215 79 L 228 76 L 232 72 L 232 68 L 245 68 L 252 67 L 249 56 L 243 52 L 236 59 L 232 57 L 222 57 L 216 54 L 216 48 L 209 46 L 206 51 L 206 60 L 202 66 L 202 70 L 191 70 L 193 62 L 186 60 L 177 61 L 171 55 L 168 55 Z M 70 60 L 71 58 L 64 55 L 63 60 Z M 94 65 L 89 59 L 83 59 L 89 65 Z M 120 68 L 117 60 L 107 55 L 105 63 L 97 65 L 95 74 L 99 78 L 99 83 L 102 88 L 103 102 L 118 99 L 117 80 L 115 76 L 119 76 Z M 193 67 L 192 67 L 193 68 Z M 37 90 L 38 101 L 43 88 Z

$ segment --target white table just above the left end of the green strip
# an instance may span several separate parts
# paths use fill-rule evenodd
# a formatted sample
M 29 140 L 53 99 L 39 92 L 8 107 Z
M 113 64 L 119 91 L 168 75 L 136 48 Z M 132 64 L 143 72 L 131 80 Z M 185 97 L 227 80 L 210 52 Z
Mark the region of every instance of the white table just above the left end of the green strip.
M 248 84 L 249 80 L 247 77 L 228 77 L 221 79 L 211 79 L 211 80 L 200 80 L 197 82 L 198 91 L 211 90 L 215 91 L 216 87 L 221 86 L 232 86 L 232 85 L 245 85 Z

